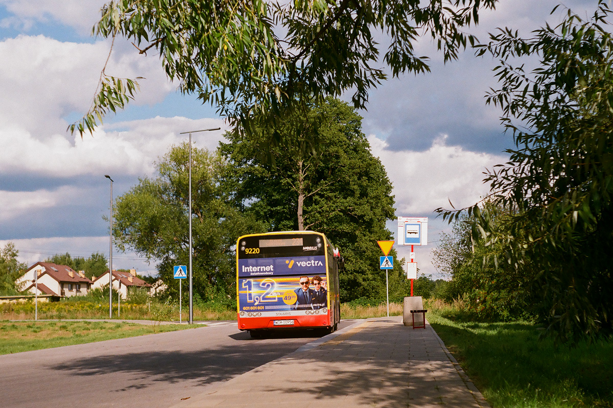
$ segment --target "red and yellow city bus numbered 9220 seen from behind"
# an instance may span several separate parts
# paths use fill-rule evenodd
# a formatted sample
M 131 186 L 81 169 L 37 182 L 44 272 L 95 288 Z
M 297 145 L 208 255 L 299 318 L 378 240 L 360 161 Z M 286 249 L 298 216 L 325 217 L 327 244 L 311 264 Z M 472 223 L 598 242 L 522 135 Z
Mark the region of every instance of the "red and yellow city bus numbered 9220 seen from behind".
M 252 338 L 290 328 L 332 333 L 340 321 L 341 262 L 338 250 L 319 232 L 266 232 L 238 238 L 238 328 Z

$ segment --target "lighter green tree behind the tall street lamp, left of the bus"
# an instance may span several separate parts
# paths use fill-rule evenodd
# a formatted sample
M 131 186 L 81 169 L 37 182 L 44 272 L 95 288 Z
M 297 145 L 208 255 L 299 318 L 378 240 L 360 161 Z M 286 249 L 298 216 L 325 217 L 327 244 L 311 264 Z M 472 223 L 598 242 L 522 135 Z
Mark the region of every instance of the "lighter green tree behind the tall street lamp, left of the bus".
M 189 260 L 188 144 L 174 146 L 154 179 L 140 179 L 115 201 L 113 236 L 121 250 L 132 248 L 159 261 L 170 294 L 178 294 L 173 265 Z M 231 176 L 235 169 L 218 154 L 192 149 L 192 247 L 194 295 L 202 299 L 234 295 L 238 236 L 264 226 L 244 215 Z

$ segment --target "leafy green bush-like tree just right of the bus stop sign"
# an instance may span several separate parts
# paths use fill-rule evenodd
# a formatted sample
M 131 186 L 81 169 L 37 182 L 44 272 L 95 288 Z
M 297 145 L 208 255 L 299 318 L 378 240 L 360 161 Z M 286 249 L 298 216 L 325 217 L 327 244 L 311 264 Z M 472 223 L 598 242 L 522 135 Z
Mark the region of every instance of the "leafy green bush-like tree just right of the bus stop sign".
M 495 234 L 508 234 L 514 212 L 485 201 L 479 213 L 487 213 Z M 517 269 L 504 262 L 504 245 L 484 239 L 478 229 L 477 217 L 462 213 L 453 224 L 451 234 L 442 234 L 440 245 L 433 250 L 432 263 L 450 276 L 451 281 L 438 295 L 447 302 L 462 299 L 466 309 L 482 319 L 537 316 L 541 310 L 533 302 L 532 265 L 526 262 Z

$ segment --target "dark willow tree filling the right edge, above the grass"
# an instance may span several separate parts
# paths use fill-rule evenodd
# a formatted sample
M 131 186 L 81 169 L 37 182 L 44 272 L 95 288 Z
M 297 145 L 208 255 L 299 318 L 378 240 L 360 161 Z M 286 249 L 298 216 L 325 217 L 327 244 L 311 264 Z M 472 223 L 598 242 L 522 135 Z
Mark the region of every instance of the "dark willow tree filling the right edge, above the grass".
M 517 212 L 508 231 L 496 231 L 478 206 L 468 212 L 489 245 L 503 245 L 512 267 L 536 268 L 533 292 L 548 310 L 547 333 L 562 341 L 613 331 L 610 13 L 605 1 L 587 21 L 568 10 L 555 28 L 541 28 L 530 39 L 507 28 L 480 51 L 501 60 L 502 86 L 488 102 L 503 109 L 517 146 L 485 181 L 495 204 Z M 512 65 L 529 55 L 540 59 L 532 72 Z

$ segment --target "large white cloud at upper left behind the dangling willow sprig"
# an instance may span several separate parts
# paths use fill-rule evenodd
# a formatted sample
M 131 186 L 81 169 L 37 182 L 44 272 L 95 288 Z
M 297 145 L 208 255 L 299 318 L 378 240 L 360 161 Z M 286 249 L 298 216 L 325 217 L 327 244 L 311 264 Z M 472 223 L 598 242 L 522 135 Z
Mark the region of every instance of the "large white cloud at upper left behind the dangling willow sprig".
M 85 114 L 109 55 L 110 44 L 60 42 L 44 35 L 19 35 L 0 42 L 0 128 L 18 126 L 35 138 L 66 133 L 64 119 Z M 159 61 L 137 53 L 113 52 L 107 75 L 140 80 L 134 103 L 159 103 L 175 87 Z

